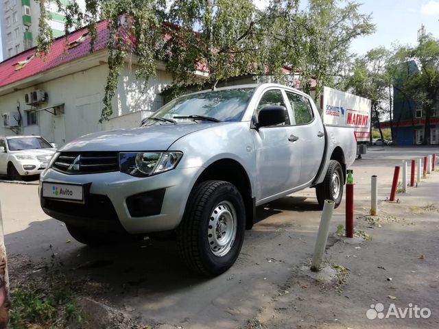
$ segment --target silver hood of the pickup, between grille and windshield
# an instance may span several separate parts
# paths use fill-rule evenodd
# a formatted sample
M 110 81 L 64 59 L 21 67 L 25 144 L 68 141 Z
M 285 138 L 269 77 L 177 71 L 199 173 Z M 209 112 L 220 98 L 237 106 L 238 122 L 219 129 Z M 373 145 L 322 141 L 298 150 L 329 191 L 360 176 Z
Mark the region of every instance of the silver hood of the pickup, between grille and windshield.
M 150 125 L 96 132 L 67 143 L 59 151 L 165 151 L 182 136 L 224 124 Z

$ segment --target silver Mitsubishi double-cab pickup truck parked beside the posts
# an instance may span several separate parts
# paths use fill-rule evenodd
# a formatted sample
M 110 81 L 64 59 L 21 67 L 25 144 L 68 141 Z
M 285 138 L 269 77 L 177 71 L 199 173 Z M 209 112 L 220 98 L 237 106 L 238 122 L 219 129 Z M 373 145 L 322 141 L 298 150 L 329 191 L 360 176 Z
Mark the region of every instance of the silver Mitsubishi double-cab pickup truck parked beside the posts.
M 256 206 L 308 187 L 338 206 L 355 153 L 353 130 L 324 126 L 298 90 L 218 88 L 64 145 L 40 176 L 40 203 L 81 243 L 175 238 L 189 268 L 215 276 L 235 263 Z

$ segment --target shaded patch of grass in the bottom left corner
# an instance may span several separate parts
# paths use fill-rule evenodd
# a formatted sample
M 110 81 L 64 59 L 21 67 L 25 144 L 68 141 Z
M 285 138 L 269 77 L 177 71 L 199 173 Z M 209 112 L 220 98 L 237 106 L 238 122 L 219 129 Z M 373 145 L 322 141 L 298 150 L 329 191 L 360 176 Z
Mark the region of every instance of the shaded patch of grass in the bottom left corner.
M 82 322 L 73 284 L 61 273 L 47 273 L 38 282 L 21 284 L 10 297 L 11 328 L 58 329 Z

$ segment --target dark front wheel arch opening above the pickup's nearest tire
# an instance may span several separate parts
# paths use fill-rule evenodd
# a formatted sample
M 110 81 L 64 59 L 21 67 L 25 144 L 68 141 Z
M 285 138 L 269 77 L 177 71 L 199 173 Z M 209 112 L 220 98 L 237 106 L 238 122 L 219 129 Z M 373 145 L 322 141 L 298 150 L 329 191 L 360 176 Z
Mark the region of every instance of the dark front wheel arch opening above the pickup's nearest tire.
M 216 160 L 202 171 L 193 187 L 205 180 L 224 180 L 237 187 L 244 199 L 244 206 L 246 208 L 246 229 L 250 230 L 254 223 L 256 202 L 254 197 L 252 197 L 250 177 L 242 164 L 231 158 Z

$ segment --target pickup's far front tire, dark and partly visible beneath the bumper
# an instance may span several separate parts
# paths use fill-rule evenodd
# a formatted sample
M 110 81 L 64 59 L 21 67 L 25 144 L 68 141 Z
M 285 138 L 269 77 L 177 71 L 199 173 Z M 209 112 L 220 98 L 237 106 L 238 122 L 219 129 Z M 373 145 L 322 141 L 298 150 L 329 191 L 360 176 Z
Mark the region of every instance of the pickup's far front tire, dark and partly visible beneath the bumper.
M 139 239 L 138 236 L 130 236 L 128 234 L 116 234 L 114 232 L 93 230 L 91 228 L 79 228 L 67 224 L 66 227 L 73 239 L 90 247 L 134 241 L 136 238 Z

